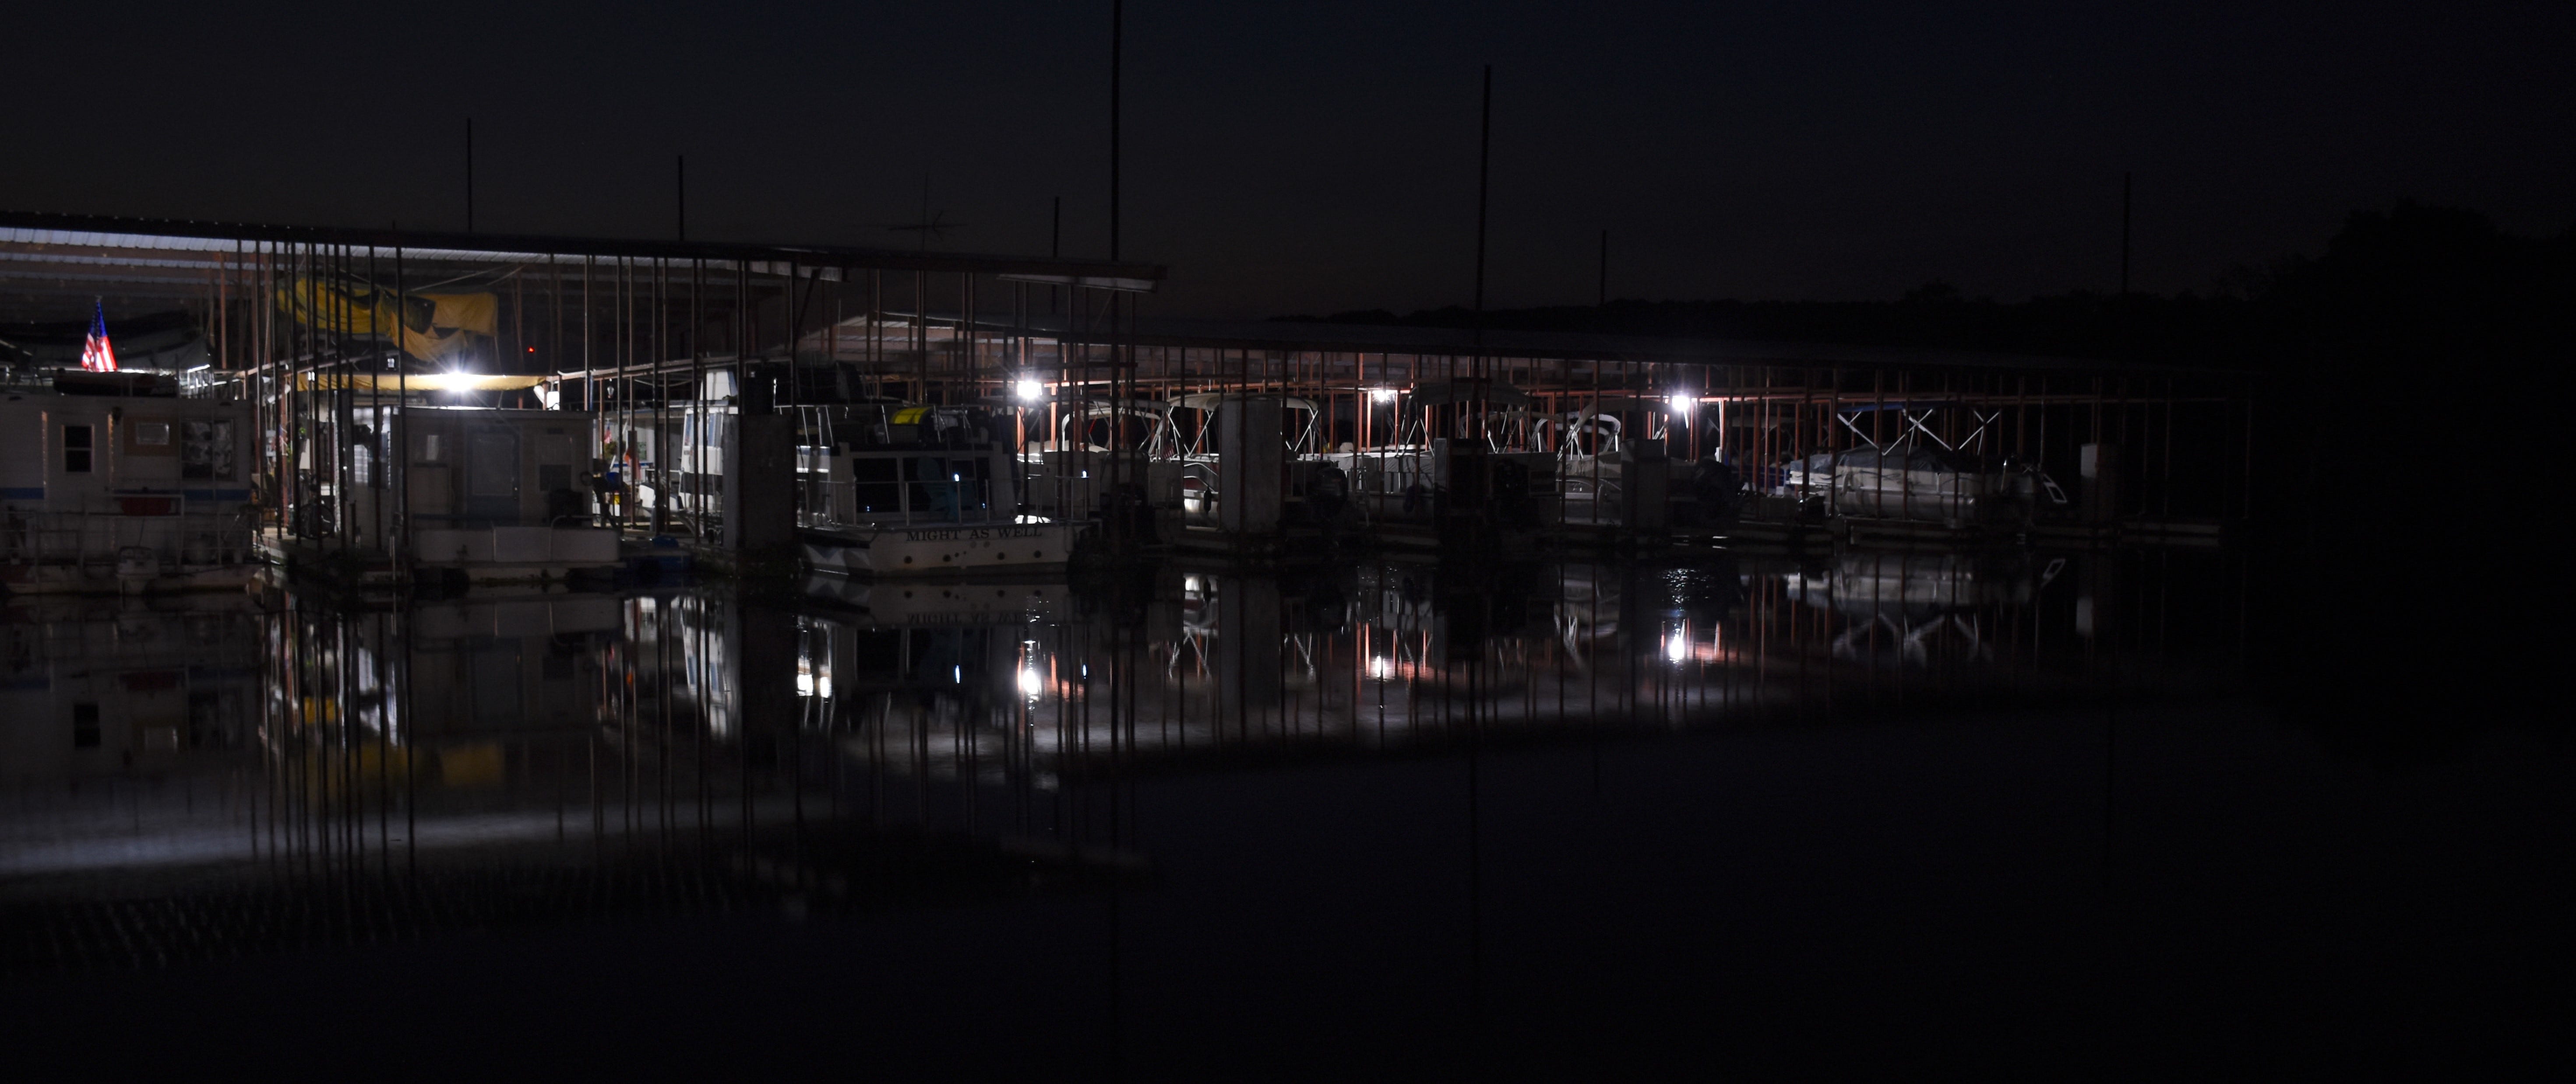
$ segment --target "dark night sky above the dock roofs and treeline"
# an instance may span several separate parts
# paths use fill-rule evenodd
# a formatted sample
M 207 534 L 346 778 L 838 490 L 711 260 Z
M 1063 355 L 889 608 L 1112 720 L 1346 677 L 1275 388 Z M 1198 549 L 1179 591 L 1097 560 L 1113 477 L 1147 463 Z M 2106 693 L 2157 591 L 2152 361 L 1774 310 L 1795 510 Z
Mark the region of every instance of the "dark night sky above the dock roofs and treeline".
M 1126 255 L 1162 314 L 2004 299 L 2313 252 L 2401 196 L 2576 221 L 2576 5 L 1128 3 Z M 21 5 L 0 206 L 1103 255 L 1108 0 Z

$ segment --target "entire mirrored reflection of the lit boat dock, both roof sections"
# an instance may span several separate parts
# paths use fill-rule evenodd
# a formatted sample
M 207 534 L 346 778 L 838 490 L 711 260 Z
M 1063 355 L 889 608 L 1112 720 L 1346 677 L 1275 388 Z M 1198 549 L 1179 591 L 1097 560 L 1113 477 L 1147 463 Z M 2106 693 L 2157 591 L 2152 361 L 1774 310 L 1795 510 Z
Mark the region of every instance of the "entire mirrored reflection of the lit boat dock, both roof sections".
M 1139 780 L 2213 687 L 2233 590 L 1844 551 L 10 603 L 0 968 L 1151 883 Z

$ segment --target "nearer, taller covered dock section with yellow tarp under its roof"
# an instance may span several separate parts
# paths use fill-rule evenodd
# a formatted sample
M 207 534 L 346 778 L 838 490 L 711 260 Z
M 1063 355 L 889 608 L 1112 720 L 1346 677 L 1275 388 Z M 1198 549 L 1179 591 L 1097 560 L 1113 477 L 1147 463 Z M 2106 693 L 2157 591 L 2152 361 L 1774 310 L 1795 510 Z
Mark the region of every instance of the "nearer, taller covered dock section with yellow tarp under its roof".
M 175 330 L 198 363 L 173 376 L 247 409 L 242 489 L 260 502 L 245 536 L 270 559 L 355 584 L 554 579 L 629 564 L 662 538 L 732 564 L 793 556 L 799 438 L 768 430 L 786 420 L 778 407 L 817 397 L 801 368 L 783 386 L 752 371 L 788 363 L 817 327 L 920 309 L 943 288 L 1054 291 L 1115 312 L 1121 301 L 1100 299 L 1159 276 L 863 247 L 0 214 L 0 322 L 52 330 L 98 304 L 111 327 L 152 317 L 155 335 Z M 183 355 L 160 337 L 139 345 Z M 920 353 L 881 340 L 889 363 Z M 891 391 L 958 394 L 948 381 Z M 994 440 L 1007 463 L 1018 433 Z M 757 461 L 750 479 L 744 461 Z M 1015 494 L 984 512 L 1018 528 Z M 917 505 L 891 525 L 974 520 L 956 500 Z M 881 525 L 822 512 L 819 530 Z M 1041 533 L 1056 536 L 1046 559 L 1061 561 L 1061 530 Z

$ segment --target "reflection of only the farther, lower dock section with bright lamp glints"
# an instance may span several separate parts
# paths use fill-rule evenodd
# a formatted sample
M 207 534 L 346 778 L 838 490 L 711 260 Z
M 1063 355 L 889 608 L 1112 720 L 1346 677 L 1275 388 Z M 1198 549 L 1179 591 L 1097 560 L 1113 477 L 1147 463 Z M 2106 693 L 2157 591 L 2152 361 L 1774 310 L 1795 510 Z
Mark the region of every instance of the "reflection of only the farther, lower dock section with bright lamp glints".
M 853 760 L 876 770 L 1051 790 L 1105 765 L 1368 754 L 1463 729 L 1731 726 L 2218 680 L 2223 664 L 2172 644 L 2123 644 L 2123 664 L 2105 664 L 2092 615 L 2107 603 L 2092 590 L 2223 579 L 2215 561 L 2179 577 L 2120 561 L 1388 561 L 1296 579 L 1175 564 L 1074 605 L 953 587 L 945 610 L 853 600 L 806 613 L 799 690 L 806 716 L 855 734 Z

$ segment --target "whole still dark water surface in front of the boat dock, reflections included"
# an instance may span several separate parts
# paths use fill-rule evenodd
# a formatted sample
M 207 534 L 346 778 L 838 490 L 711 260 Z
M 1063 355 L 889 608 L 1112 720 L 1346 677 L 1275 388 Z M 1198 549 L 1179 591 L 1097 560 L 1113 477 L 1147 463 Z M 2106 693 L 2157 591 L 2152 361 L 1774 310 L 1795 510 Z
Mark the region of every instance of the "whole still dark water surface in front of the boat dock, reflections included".
M 2414 1051 L 2380 1025 L 2537 968 L 2566 754 L 2334 754 L 2244 693 L 2246 590 L 1852 551 L 18 600 L 0 986 L 21 1035 L 312 1066 Z

